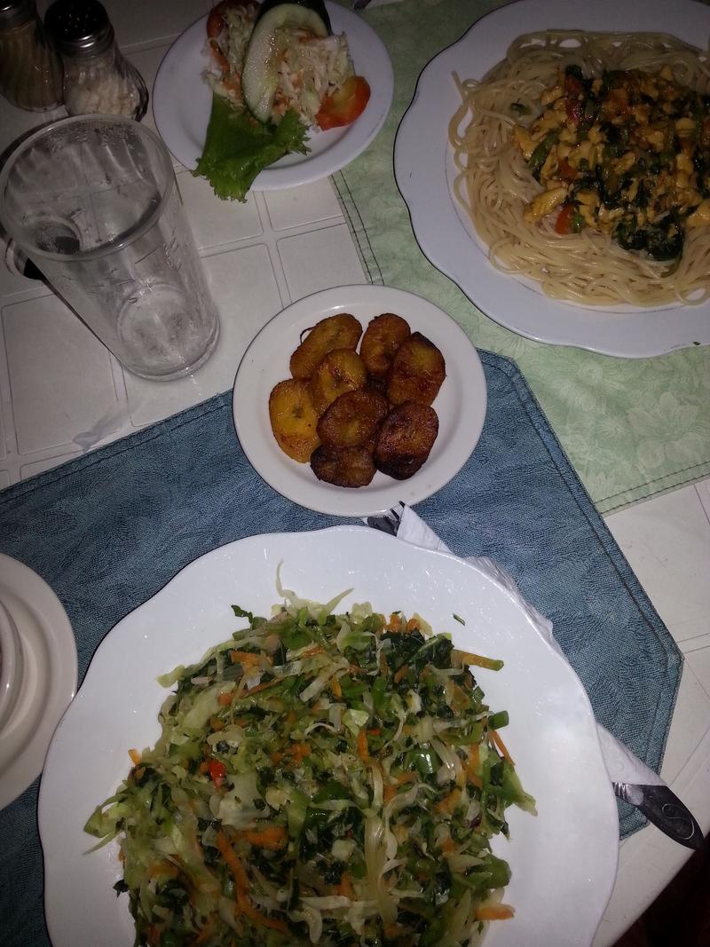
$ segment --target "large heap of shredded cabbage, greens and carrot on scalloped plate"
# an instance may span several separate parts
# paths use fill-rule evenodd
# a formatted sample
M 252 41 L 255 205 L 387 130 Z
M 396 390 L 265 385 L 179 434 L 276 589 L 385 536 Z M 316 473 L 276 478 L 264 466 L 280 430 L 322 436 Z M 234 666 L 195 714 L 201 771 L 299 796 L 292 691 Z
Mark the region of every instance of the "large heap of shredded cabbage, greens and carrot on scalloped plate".
M 489 840 L 535 811 L 470 672 L 501 662 L 418 616 L 279 594 L 159 679 L 160 739 L 86 823 L 120 838 L 135 944 L 477 943 L 513 913 Z

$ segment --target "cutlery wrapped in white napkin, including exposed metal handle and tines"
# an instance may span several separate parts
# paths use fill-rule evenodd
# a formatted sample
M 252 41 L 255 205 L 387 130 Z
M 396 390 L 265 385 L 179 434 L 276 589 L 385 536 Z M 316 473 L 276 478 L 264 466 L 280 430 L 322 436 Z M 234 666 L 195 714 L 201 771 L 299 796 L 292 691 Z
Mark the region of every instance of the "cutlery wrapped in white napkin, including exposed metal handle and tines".
M 370 516 L 366 523 L 367 526 L 391 533 L 406 543 L 451 553 L 451 549 L 438 538 L 434 530 L 428 527 L 413 509 L 404 504 L 400 503 L 384 516 Z M 472 563 L 491 579 L 505 586 L 545 641 L 560 657 L 567 660 L 553 635 L 552 622 L 523 598 L 505 569 L 485 556 L 469 556 L 465 558 L 465 562 Z M 596 724 L 596 730 L 614 793 L 644 813 L 649 822 L 676 842 L 689 849 L 700 849 L 704 843 L 701 827 L 666 782 L 612 736 L 606 727 Z

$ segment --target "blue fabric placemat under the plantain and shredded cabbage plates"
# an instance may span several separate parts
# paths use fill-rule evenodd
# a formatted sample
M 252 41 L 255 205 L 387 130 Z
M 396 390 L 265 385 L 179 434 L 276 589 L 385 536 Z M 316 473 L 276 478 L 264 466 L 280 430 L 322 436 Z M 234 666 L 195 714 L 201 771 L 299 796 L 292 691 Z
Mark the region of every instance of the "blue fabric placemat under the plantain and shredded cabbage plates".
M 454 552 L 506 567 L 554 621 L 599 722 L 657 770 L 681 653 L 517 367 L 488 352 L 481 359 L 488 381 L 481 440 L 417 512 Z M 259 532 L 342 522 L 295 506 L 254 473 L 235 437 L 230 394 L 0 493 L 0 551 L 27 563 L 62 600 L 80 681 L 115 622 L 197 556 Z M 38 786 L 0 813 L 7 947 L 48 944 Z M 619 817 L 622 835 L 644 824 L 626 804 Z

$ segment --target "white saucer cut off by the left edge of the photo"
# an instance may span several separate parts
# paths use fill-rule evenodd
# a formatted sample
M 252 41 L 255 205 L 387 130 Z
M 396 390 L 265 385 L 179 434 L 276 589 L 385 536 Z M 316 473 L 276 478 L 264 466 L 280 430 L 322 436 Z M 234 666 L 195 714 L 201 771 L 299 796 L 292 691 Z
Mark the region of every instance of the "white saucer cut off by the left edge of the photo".
M 42 773 L 49 741 L 77 689 L 77 645 L 61 601 L 36 572 L 0 554 L 0 599 L 23 647 L 22 692 L 0 740 L 0 809 Z

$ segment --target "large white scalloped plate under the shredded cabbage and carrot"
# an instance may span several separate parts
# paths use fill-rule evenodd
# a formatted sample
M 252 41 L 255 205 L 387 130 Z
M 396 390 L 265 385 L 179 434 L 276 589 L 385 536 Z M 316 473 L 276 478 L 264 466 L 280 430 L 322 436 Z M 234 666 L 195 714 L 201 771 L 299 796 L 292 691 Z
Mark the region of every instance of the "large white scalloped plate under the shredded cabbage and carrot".
M 224 545 L 187 565 L 101 642 L 57 728 L 40 792 L 44 907 L 54 947 L 133 944 L 127 899 L 113 889 L 121 875 L 117 844 L 87 854 L 96 840 L 83 825 L 128 775 L 127 750 L 159 736 L 167 691 L 157 675 L 199 660 L 244 627 L 233 604 L 270 614 L 279 563 L 284 587 L 300 596 L 326 601 L 353 587 L 339 610 L 369 601 L 384 614 L 417 611 L 459 647 L 506 662 L 476 677 L 488 705 L 509 713 L 506 745 L 538 814 L 511 807 L 510 840 L 494 840 L 511 867 L 506 902 L 515 917 L 492 924 L 486 945 L 588 947 L 612 891 L 618 819 L 584 688 L 502 585 L 449 553 L 365 527 Z

